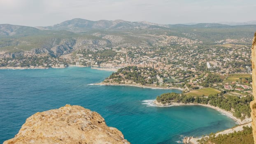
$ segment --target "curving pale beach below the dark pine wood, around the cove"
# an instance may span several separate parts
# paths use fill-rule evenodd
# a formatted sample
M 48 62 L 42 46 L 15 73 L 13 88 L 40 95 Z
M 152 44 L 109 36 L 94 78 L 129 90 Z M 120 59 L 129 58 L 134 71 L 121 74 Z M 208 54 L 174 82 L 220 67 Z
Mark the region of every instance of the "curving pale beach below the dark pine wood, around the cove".
M 234 121 L 236 121 L 237 124 L 239 124 L 239 125 L 242 125 L 242 124 L 251 122 L 251 118 L 245 118 L 244 120 L 241 120 L 240 118 L 235 117 L 230 111 L 226 111 L 226 110 L 224 110 L 224 109 L 221 109 L 221 108 L 219 108 L 219 107 L 214 107 L 214 106 L 212 106 L 212 105 L 195 104 L 195 103 L 184 104 L 184 103 L 177 103 L 177 102 L 173 102 L 173 103 L 171 103 L 171 104 L 163 105 L 163 104 L 161 104 L 160 102 L 157 102 L 156 100 L 153 100 L 153 103 L 154 103 L 157 107 L 200 105 L 200 106 L 203 106 L 203 107 L 209 107 L 209 108 L 215 109 L 215 110 L 221 112 L 222 114 L 225 114 L 225 115 L 228 116 L 229 118 L 232 118 Z

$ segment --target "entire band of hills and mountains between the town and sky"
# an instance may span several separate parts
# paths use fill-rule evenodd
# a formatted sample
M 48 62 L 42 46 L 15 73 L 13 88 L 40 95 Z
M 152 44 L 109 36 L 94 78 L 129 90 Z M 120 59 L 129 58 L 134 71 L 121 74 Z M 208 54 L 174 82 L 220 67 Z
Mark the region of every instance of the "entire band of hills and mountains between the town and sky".
M 97 50 L 106 47 L 132 46 L 154 48 L 170 46 L 165 41 L 169 36 L 202 41 L 205 44 L 244 38 L 249 44 L 255 29 L 256 25 L 229 26 L 219 23 L 161 25 L 147 21 L 90 21 L 79 18 L 54 26 L 36 28 L 0 24 L 0 57 L 21 56 L 21 51 L 34 54 L 47 53 L 58 57 L 77 49 Z

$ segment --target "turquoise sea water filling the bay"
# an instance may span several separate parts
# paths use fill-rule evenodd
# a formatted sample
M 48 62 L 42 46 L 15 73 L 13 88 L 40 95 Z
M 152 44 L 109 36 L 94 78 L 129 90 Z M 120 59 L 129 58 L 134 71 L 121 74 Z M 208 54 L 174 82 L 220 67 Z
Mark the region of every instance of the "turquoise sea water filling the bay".
M 206 135 L 235 125 L 207 107 L 152 107 L 147 101 L 178 90 L 88 85 L 111 73 L 88 67 L 0 70 L 0 143 L 14 137 L 37 111 L 66 104 L 97 111 L 132 144 L 175 144 L 182 136 Z

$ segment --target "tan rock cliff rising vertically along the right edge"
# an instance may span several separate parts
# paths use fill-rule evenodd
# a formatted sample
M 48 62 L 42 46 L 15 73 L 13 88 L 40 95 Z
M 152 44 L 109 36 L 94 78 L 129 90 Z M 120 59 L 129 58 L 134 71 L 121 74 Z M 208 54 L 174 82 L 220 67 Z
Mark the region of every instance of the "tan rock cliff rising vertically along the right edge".
M 254 144 L 256 144 L 256 33 L 251 47 L 251 65 L 252 65 L 252 89 L 254 100 L 251 102 L 251 118 L 252 118 L 252 132 L 254 135 Z

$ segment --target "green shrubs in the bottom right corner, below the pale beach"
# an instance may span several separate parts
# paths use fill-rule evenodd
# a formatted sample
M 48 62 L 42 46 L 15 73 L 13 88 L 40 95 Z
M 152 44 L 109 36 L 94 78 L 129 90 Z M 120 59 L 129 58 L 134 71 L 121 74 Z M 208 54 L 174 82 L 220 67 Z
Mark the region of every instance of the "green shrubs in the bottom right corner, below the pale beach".
M 254 138 L 251 127 L 243 127 L 244 130 L 230 134 L 209 135 L 209 138 L 200 139 L 200 144 L 253 144 Z

